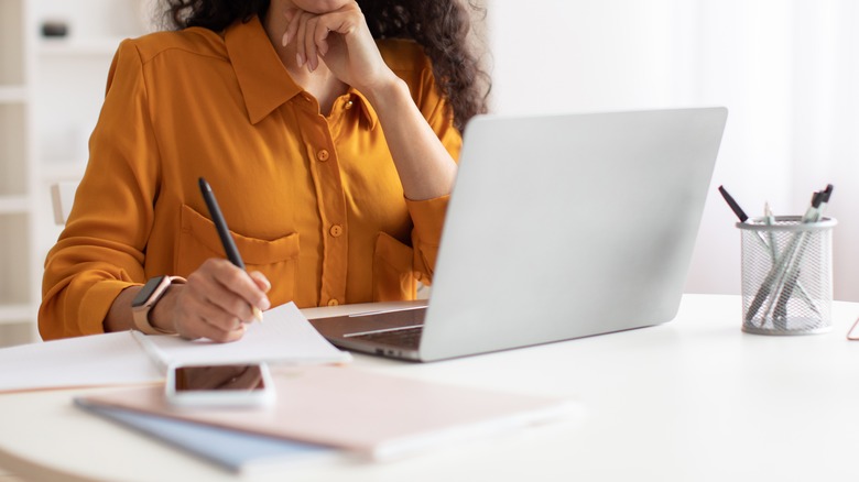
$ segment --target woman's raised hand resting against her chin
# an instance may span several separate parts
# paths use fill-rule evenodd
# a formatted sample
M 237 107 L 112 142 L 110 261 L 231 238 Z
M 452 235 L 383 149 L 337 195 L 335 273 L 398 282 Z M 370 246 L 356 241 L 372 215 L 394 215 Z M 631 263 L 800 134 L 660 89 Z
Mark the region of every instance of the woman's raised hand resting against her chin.
M 295 44 L 298 67 L 313 72 L 324 62 L 338 79 L 365 92 L 396 80 L 358 3 L 322 13 L 290 9 L 284 15 L 289 26 L 282 42 Z

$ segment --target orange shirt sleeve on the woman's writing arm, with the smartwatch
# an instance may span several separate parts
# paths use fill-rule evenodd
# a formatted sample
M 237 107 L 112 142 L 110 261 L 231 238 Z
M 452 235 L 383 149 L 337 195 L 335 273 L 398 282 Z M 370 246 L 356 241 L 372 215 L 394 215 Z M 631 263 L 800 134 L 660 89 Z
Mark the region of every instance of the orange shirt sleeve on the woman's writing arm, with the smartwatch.
M 45 340 L 104 332 L 113 299 L 144 281 L 159 163 L 133 42 L 113 57 L 89 152 L 74 208 L 45 261 L 39 310 Z

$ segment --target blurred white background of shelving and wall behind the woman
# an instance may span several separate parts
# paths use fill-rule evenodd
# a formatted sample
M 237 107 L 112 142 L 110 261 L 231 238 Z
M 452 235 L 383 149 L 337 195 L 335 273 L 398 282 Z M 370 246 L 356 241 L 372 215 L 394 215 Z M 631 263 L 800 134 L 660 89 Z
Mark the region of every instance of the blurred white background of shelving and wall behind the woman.
M 59 232 L 50 186 L 83 174 L 113 52 L 152 29 L 152 3 L 0 0 L 0 346 L 36 339 L 41 266 Z M 859 2 L 479 4 L 494 112 L 729 109 L 687 292 L 740 292 L 719 185 L 754 217 L 764 202 L 801 215 L 831 183 L 835 297 L 859 300 Z

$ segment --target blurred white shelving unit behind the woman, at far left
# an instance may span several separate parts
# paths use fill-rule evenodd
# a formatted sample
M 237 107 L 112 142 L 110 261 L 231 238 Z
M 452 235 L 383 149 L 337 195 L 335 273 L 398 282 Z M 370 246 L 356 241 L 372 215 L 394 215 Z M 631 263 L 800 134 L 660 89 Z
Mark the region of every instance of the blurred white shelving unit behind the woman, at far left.
M 146 11 L 151 10 L 146 1 Z M 86 139 L 110 61 L 123 39 L 143 34 L 138 0 L 0 0 L 0 342 L 4 325 L 31 324 L 44 255 L 55 242 L 50 185 L 79 179 Z M 65 37 L 44 37 L 45 22 Z M 11 281 L 18 281 L 11 284 Z

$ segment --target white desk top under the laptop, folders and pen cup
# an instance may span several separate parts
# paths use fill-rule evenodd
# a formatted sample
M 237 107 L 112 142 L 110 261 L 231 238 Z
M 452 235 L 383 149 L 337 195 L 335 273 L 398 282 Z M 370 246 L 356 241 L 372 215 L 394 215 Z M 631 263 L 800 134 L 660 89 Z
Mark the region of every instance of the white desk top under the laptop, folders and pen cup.
M 859 480 L 859 304 L 828 335 L 740 331 L 740 298 L 687 295 L 654 328 L 370 370 L 525 393 L 575 394 L 568 421 L 406 460 L 311 465 L 258 480 Z M 72 406 L 79 391 L 0 396 L 0 467 L 58 480 L 236 480 Z

